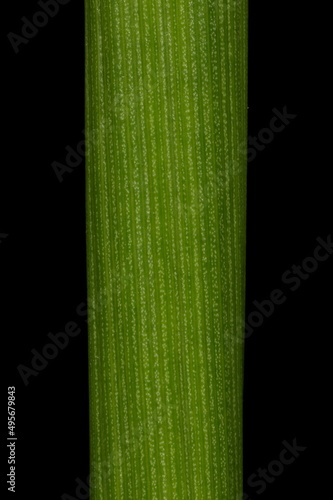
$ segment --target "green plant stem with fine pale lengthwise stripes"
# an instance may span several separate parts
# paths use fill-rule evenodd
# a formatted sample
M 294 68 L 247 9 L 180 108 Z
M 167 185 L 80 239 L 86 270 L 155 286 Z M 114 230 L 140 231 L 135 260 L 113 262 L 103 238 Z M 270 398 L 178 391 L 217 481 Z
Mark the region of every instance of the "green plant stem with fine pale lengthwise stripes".
M 241 500 L 247 0 L 85 0 L 92 500 Z

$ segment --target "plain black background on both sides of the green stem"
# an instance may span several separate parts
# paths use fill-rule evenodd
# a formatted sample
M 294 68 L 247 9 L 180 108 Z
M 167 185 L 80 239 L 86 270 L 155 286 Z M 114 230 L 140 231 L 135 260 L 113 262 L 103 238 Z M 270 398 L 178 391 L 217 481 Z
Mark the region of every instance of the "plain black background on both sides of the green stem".
M 18 437 L 17 493 L 8 497 L 56 500 L 75 497 L 76 478 L 85 482 L 89 473 L 87 329 L 76 311 L 86 301 L 84 161 L 61 183 L 51 166 L 65 163 L 66 146 L 75 149 L 84 138 L 83 2 L 61 5 L 17 54 L 7 33 L 20 34 L 22 16 L 31 19 L 40 8 L 25 0 L 5 10 L 1 405 L 7 386 L 16 386 Z M 250 0 L 249 135 L 269 126 L 273 108 L 297 115 L 248 167 L 247 315 L 276 288 L 286 296 L 246 341 L 244 490 L 253 500 L 319 499 L 329 491 L 333 257 L 295 291 L 281 279 L 313 255 L 317 237 L 332 234 L 329 124 L 320 116 L 330 116 L 327 61 L 319 59 L 320 30 L 314 35 L 324 17 L 303 2 Z M 80 334 L 25 386 L 17 366 L 29 365 L 31 349 L 40 352 L 47 334 L 69 321 Z M 258 494 L 247 479 L 294 439 L 306 450 Z

